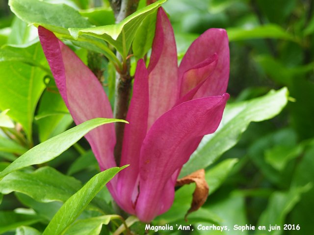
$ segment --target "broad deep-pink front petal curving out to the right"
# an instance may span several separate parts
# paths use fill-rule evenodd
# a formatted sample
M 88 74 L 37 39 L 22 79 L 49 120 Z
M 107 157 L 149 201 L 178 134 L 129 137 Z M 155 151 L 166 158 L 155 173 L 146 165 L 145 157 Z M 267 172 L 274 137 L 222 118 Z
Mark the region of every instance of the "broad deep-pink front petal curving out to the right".
M 224 94 L 184 102 L 151 127 L 139 163 L 140 193 L 135 211 L 142 222 L 150 222 L 170 208 L 174 191 L 166 192 L 165 185 L 171 183 L 169 179 L 187 162 L 203 136 L 217 129 L 228 98 L 229 94 Z M 161 208 L 162 205 L 167 208 Z

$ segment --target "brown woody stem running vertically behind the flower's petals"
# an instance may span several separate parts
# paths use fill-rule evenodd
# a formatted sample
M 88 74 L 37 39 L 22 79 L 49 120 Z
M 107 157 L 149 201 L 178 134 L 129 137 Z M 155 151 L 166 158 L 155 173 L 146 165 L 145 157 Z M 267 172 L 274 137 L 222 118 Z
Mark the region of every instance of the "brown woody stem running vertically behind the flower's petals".
M 115 15 L 116 24 L 123 21 L 126 17 L 130 16 L 136 11 L 139 0 L 110 0 L 110 5 Z M 123 63 L 122 56 L 117 52 L 117 57 Z M 124 74 L 116 73 L 116 95 L 114 104 L 114 117 L 118 119 L 126 119 L 131 94 L 131 75 L 130 75 L 130 60 L 127 62 L 127 71 Z M 117 166 L 120 165 L 122 142 L 124 135 L 125 123 L 116 122 L 116 145 L 114 147 L 114 159 Z

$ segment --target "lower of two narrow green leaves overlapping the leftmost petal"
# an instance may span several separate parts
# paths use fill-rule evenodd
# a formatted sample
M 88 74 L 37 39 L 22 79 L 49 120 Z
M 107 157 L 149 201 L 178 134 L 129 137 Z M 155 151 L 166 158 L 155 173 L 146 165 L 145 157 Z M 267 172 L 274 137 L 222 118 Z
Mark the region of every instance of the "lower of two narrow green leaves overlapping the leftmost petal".
M 43 235 L 62 234 L 84 210 L 96 194 L 111 180 L 122 167 L 113 167 L 95 175 L 76 194 L 70 197 L 54 215 Z

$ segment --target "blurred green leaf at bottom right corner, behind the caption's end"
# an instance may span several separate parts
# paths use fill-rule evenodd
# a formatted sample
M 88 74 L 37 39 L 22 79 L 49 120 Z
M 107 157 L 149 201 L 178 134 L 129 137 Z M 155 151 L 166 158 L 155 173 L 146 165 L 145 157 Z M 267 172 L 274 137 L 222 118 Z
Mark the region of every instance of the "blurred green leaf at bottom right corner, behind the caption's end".
M 304 187 L 290 188 L 288 192 L 274 192 L 269 198 L 266 210 L 262 212 L 258 226 L 268 226 L 268 224 L 274 226 L 276 224 L 283 228 L 287 214 L 293 209 L 294 205 L 300 201 L 301 194 L 307 192 L 310 188 L 312 188 L 312 185 L 308 184 Z M 258 234 L 262 233 L 261 231 L 257 232 Z M 267 234 L 270 235 L 280 235 L 281 233 L 282 230 L 267 232 Z

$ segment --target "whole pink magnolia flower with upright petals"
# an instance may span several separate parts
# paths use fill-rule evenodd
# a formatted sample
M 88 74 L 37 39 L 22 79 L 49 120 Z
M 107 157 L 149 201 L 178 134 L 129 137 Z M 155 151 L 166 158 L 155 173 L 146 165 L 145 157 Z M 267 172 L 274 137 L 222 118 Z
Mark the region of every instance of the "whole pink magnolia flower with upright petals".
M 40 42 L 59 92 L 76 124 L 113 118 L 96 76 L 52 32 L 39 26 Z M 150 64 L 141 59 L 125 126 L 121 164 L 130 164 L 107 187 L 118 205 L 150 222 L 169 210 L 180 170 L 204 135 L 213 133 L 229 98 L 228 37 L 209 29 L 187 50 L 178 68 L 172 26 L 162 8 L 157 12 Z M 101 170 L 116 166 L 114 124 L 86 136 Z

